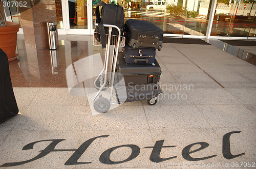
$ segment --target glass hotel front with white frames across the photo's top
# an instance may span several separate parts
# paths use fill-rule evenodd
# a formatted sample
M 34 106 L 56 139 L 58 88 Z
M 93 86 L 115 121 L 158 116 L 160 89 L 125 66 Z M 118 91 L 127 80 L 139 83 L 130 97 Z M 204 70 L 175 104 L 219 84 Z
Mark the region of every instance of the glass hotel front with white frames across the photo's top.
M 45 8 L 56 11 L 59 35 L 93 34 L 99 0 L 49 2 L 41 1 Z M 256 3 L 253 0 L 117 0 L 116 3 L 124 8 L 125 20 L 148 20 L 163 29 L 164 36 L 256 39 Z M 18 22 L 22 28 L 23 20 L 17 8 L 5 7 L 5 10 L 10 13 L 7 20 Z

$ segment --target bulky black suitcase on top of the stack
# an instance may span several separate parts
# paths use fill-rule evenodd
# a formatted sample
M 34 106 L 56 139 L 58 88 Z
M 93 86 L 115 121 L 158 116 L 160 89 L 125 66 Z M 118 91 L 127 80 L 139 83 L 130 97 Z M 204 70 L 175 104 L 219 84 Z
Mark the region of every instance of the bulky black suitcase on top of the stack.
M 129 19 L 124 23 L 126 42 L 133 47 L 162 49 L 163 30 L 146 20 Z

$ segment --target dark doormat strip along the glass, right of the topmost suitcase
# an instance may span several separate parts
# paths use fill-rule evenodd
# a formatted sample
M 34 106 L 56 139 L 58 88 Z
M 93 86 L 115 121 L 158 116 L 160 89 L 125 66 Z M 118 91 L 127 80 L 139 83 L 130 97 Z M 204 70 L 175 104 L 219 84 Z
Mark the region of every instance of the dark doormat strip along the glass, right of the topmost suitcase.
M 193 39 L 193 38 L 163 38 L 163 43 L 210 45 L 209 43 L 207 43 L 201 39 Z

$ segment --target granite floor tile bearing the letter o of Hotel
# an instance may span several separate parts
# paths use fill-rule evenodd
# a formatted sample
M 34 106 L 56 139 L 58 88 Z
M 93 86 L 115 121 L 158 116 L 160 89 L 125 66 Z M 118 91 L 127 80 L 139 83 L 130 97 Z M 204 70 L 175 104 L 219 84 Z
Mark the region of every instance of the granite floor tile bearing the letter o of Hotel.
M 84 142 L 90 138 L 103 135 L 105 137 L 96 138 L 94 143 L 79 159 L 80 161 L 91 161 L 92 163 L 80 165 L 78 166 L 79 168 L 152 167 L 152 162 L 150 161 L 152 149 L 144 149 L 144 147 L 154 146 L 149 130 L 83 130 L 81 140 Z M 129 146 L 133 147 L 133 149 Z M 114 149 L 109 150 L 111 148 Z M 110 160 L 107 161 L 107 159 Z M 126 162 L 124 162 L 125 160 Z

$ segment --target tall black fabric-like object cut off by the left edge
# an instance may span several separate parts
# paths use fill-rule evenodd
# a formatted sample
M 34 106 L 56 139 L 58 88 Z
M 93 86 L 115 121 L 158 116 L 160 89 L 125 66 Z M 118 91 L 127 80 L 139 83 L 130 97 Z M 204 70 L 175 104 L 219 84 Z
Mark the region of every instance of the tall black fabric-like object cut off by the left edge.
M 18 114 L 6 53 L 0 49 L 0 123 Z

